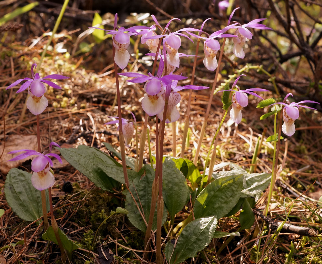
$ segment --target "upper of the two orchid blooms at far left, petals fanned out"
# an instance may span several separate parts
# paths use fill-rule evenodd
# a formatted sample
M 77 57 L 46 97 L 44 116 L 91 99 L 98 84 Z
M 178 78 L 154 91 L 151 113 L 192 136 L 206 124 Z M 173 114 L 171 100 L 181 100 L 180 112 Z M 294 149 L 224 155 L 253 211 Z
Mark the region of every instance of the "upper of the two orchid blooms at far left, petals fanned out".
M 40 113 L 42 113 L 46 109 L 46 107 L 48 106 L 48 100 L 44 96 L 44 93 L 47 90 L 46 87 L 44 86 L 44 83 L 48 84 L 49 86 L 51 86 L 53 88 L 62 89 L 57 84 L 55 84 L 49 80 L 46 80 L 46 79 L 62 80 L 62 79 L 68 79 L 69 77 L 59 75 L 59 74 L 51 74 L 51 75 L 47 75 L 43 78 L 40 78 L 39 73 L 34 74 L 34 72 L 33 72 L 34 67 L 37 67 L 36 63 L 34 63 L 31 66 L 32 78 L 26 77 L 24 79 L 16 80 L 13 84 L 9 85 L 6 88 L 6 90 L 16 86 L 17 84 L 19 84 L 22 81 L 26 81 L 22 86 L 20 86 L 19 90 L 16 93 L 20 93 L 28 88 L 28 94 L 30 95 L 30 97 L 27 100 L 27 108 L 29 109 L 30 112 L 32 112 L 35 116 L 37 116 Z

